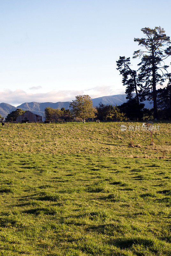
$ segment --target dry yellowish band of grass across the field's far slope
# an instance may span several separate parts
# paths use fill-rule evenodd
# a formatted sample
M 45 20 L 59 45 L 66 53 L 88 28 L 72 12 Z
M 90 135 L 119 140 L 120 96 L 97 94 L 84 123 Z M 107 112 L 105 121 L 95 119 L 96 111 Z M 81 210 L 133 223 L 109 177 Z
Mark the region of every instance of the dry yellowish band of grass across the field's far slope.
M 122 122 L 114 123 L 63 123 L 63 124 L 6 124 L 0 127 L 1 149 L 11 152 L 47 154 L 87 154 L 99 156 L 164 157 L 171 152 L 170 123 L 160 124 L 155 132 L 155 145 L 150 146 L 148 132 L 120 131 Z M 124 123 L 139 125 L 142 123 Z M 129 147 L 126 145 L 129 144 Z M 130 150 L 131 148 L 131 150 Z M 131 151 L 131 152 L 130 152 Z M 144 153 L 144 151 L 146 151 Z M 163 156 L 164 154 L 164 156 Z M 92 167 L 93 168 L 93 167 Z

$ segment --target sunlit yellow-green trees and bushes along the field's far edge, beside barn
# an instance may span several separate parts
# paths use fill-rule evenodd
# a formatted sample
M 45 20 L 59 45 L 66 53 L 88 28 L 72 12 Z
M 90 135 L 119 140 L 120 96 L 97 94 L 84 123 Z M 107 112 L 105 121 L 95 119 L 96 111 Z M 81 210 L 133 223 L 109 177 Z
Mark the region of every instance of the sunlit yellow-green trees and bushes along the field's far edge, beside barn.
M 18 108 L 12 111 L 5 118 L 6 122 L 15 121 L 16 118 L 26 111 Z M 128 120 L 125 114 L 120 111 L 119 107 L 112 105 L 104 105 L 99 103 L 96 108 L 93 107 L 92 99 L 89 95 L 78 95 L 75 100 L 70 103 L 70 109 L 55 109 L 46 107 L 44 112 L 46 121 L 83 121 L 99 119 L 101 121 L 123 121 Z

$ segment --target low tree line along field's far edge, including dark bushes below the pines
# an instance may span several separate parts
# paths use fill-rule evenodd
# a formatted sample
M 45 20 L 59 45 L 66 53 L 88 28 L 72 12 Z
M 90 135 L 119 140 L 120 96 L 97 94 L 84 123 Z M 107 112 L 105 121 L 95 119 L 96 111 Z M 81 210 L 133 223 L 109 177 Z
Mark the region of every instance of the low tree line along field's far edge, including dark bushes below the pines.
M 163 108 L 165 108 L 167 101 L 165 100 L 162 104 Z M 72 100 L 70 103 L 70 109 L 46 107 L 44 118 L 46 121 L 51 122 L 82 120 L 83 123 L 85 123 L 86 120 L 94 119 L 99 119 L 100 121 L 143 120 L 145 118 L 152 119 L 153 110 L 144 108 L 144 105 L 144 103 L 139 103 L 140 108 L 137 108 L 137 101 L 133 98 L 120 106 L 104 105 L 100 102 L 99 105 L 94 108 L 92 99 L 89 95 L 78 95 L 76 96 L 76 100 Z M 139 109 L 141 109 L 140 112 Z M 18 108 L 9 113 L 5 118 L 5 121 L 15 121 L 18 116 L 25 112 L 26 111 Z

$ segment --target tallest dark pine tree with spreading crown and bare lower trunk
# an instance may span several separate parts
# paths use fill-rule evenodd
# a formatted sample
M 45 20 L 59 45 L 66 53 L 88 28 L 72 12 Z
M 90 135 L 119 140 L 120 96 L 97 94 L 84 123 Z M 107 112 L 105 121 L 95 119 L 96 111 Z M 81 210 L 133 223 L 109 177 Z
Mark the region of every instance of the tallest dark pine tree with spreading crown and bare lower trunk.
M 142 57 L 138 64 L 138 78 L 143 83 L 144 95 L 153 101 L 154 118 L 158 118 L 156 86 L 162 85 L 168 78 L 168 66 L 164 64 L 164 60 L 171 55 L 171 42 L 161 27 L 142 28 L 141 31 L 145 37 L 134 38 L 134 41 L 142 46 L 142 50 L 135 51 L 133 58 Z

